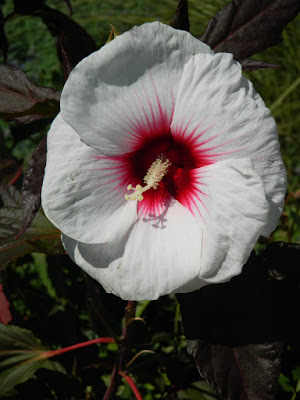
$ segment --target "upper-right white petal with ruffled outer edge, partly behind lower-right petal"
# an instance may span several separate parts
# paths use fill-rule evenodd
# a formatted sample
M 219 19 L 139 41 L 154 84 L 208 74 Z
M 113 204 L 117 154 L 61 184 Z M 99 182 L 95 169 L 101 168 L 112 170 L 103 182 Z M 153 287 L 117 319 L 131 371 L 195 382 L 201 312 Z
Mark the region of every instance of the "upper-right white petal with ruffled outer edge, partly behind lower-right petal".
M 270 204 L 263 231 L 269 235 L 283 208 L 285 168 L 275 121 L 232 54 L 195 55 L 186 64 L 171 130 L 193 143 L 207 162 L 252 160 Z

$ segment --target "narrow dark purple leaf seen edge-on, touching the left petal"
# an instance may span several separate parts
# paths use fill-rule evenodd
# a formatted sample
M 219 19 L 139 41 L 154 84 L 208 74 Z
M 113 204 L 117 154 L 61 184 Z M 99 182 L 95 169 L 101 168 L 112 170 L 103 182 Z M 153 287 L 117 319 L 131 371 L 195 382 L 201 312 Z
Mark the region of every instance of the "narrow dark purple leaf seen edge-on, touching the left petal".
M 41 206 L 41 189 L 46 165 L 47 137 L 45 136 L 29 160 L 22 185 L 23 223 L 18 239 L 30 226 Z

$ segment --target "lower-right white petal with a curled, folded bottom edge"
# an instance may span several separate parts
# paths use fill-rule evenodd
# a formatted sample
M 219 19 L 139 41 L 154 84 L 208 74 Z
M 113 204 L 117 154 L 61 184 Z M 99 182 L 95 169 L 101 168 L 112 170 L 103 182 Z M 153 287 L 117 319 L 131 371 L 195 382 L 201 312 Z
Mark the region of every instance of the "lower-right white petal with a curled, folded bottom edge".
M 225 282 L 241 272 L 268 222 L 264 185 L 249 159 L 199 169 L 198 185 L 192 211 L 203 227 L 199 280 Z

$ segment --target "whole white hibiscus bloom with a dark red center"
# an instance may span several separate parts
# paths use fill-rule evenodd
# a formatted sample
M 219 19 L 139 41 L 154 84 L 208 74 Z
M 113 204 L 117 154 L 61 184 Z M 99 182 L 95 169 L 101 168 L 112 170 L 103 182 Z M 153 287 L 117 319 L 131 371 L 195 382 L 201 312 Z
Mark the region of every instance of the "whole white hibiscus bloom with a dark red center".
M 239 274 L 285 186 L 275 121 L 240 64 L 154 22 L 72 71 L 42 204 L 107 292 L 151 300 Z

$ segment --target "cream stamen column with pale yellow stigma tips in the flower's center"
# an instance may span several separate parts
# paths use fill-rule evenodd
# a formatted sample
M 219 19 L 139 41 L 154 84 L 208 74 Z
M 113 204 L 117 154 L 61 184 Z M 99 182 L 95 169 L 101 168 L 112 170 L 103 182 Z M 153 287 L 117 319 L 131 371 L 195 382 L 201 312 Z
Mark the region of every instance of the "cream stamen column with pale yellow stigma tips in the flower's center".
M 127 190 L 132 190 L 132 194 L 125 194 L 125 200 L 137 200 L 142 201 L 144 196 L 142 193 L 146 192 L 153 188 L 157 189 L 159 182 L 163 179 L 163 177 L 168 173 L 169 167 L 171 163 L 169 160 L 163 160 L 163 156 L 159 156 L 148 169 L 147 174 L 144 177 L 144 182 L 146 186 L 142 187 L 141 185 L 136 185 L 136 187 L 132 187 L 132 185 L 127 186 Z

